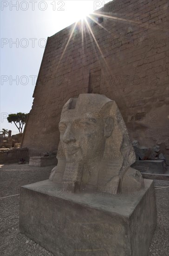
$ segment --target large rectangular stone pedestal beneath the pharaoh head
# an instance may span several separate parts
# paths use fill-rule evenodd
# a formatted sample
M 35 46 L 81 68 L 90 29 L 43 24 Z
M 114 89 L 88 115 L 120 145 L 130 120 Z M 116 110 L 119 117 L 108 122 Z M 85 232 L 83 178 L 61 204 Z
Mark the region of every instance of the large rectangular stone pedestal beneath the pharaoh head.
M 153 181 L 112 195 L 65 193 L 49 180 L 20 191 L 20 231 L 55 256 L 147 256 L 156 227 Z

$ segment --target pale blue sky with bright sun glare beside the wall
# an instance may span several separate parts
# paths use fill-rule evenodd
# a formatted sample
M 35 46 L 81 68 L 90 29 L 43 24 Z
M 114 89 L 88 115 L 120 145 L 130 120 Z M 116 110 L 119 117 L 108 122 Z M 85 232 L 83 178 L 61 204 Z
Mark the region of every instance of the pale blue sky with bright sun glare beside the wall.
M 29 113 L 45 42 L 61 29 L 109 1 L 0 1 L 0 130 L 19 131 L 10 113 Z

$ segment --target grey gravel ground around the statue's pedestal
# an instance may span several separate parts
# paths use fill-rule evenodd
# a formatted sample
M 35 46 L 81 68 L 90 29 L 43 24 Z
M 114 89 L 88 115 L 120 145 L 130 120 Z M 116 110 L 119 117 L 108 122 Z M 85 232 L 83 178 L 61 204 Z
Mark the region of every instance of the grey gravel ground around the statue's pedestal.
M 53 256 L 52 253 L 20 233 L 20 195 L 17 195 L 19 194 L 21 185 L 48 179 L 52 168 L 52 166 L 41 168 L 30 167 L 28 164 L 10 164 L 1 166 L 0 252 L 2 256 Z M 162 187 L 169 186 L 169 181 L 155 180 L 155 186 L 157 226 L 152 238 L 148 256 L 167 256 L 169 255 L 169 187 Z

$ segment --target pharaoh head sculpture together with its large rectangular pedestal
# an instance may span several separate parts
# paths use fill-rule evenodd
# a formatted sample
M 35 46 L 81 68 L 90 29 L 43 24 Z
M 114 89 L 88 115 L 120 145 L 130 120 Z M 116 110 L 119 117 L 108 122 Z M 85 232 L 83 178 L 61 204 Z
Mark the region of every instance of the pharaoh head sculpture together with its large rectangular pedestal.
M 55 256 L 147 256 L 154 185 L 130 167 L 135 153 L 116 102 L 79 94 L 65 103 L 59 130 L 49 179 L 22 186 L 20 231 Z

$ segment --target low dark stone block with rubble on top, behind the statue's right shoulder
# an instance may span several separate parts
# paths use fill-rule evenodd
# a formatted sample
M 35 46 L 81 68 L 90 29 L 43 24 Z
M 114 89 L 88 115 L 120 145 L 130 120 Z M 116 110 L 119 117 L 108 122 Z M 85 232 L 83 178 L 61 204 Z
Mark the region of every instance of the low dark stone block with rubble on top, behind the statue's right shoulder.
M 140 172 L 163 174 L 167 170 L 167 166 L 164 160 L 136 160 L 131 165 L 132 168 L 139 170 Z

